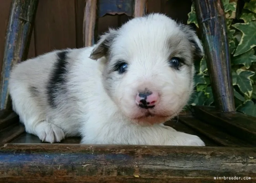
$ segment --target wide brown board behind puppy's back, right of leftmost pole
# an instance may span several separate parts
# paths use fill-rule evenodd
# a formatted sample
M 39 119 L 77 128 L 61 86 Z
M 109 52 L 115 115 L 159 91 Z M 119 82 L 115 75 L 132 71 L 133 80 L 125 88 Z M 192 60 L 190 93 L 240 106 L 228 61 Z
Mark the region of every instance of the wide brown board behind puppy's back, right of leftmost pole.
M 75 0 L 39 1 L 35 41 L 37 55 L 76 47 Z

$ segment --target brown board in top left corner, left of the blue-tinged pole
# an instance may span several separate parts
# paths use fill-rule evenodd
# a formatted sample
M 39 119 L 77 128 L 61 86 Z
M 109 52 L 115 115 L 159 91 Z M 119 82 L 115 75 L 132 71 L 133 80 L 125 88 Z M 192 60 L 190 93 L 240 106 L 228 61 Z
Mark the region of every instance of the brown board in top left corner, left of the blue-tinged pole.
M 2 71 L 2 61 L 4 58 L 4 50 L 5 50 L 5 35 L 8 24 L 8 17 L 11 8 L 12 0 L 1 1 L 0 6 L 0 71 Z

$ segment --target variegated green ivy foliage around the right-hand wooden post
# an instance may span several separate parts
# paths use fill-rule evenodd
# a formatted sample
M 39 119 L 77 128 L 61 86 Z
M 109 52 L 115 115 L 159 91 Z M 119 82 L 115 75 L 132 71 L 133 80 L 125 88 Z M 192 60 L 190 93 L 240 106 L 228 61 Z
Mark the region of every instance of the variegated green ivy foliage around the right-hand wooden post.
M 222 0 L 232 65 L 236 110 L 256 117 L 256 0 L 244 0 L 241 13 L 237 1 Z M 194 3 L 188 13 L 188 24 L 198 28 Z M 195 93 L 190 105 L 214 105 L 205 57 L 195 61 Z

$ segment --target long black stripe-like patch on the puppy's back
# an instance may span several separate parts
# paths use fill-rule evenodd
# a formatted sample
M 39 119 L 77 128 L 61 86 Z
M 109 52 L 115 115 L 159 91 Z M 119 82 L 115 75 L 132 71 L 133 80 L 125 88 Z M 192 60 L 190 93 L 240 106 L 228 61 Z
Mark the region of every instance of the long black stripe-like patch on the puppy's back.
M 56 109 L 58 105 L 56 97 L 65 91 L 68 65 L 67 54 L 68 51 L 61 51 L 57 53 L 58 58 L 54 64 L 54 68 L 47 84 L 48 103 L 53 109 Z

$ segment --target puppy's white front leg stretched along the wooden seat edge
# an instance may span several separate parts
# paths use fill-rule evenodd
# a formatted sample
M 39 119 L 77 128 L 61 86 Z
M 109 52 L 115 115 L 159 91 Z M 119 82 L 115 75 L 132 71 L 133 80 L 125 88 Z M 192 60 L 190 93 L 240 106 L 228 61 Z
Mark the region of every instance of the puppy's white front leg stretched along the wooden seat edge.
M 105 124 L 99 124 L 100 120 L 93 121 L 89 120 L 84 125 L 84 137 L 81 140 L 83 144 L 205 146 L 198 136 L 178 132 L 163 124 L 140 126 L 132 123 L 115 123 L 112 120 Z

